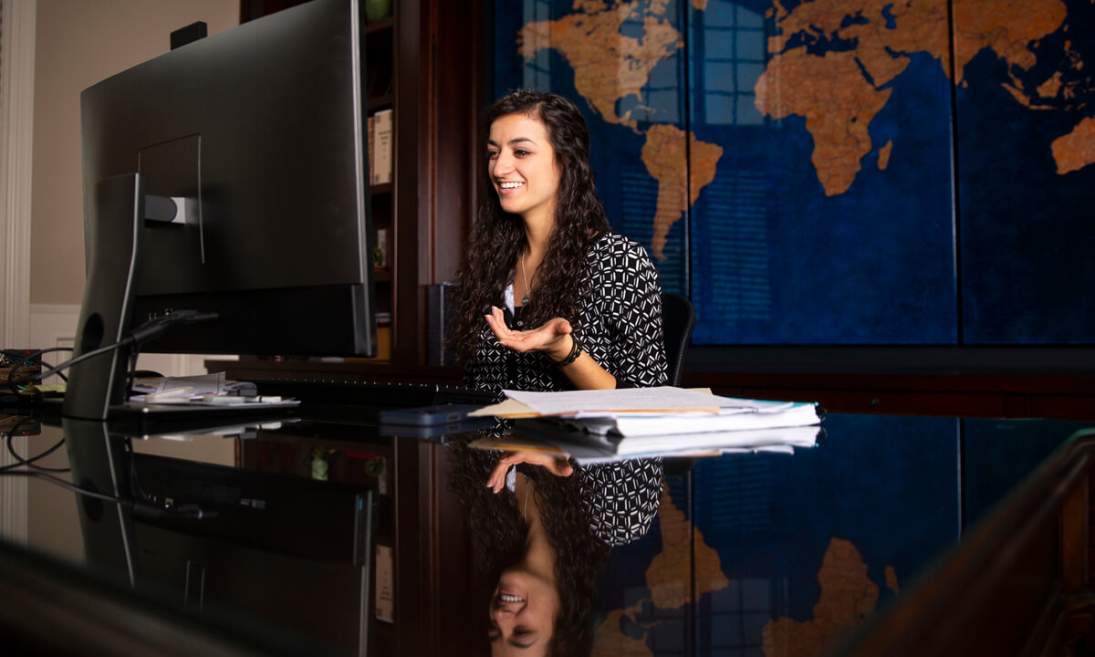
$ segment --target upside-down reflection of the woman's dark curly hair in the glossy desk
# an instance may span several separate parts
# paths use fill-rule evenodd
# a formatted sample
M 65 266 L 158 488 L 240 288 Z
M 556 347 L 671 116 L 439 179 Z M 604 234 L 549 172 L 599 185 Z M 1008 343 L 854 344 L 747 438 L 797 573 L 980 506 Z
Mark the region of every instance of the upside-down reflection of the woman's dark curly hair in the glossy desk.
M 502 573 L 521 561 L 529 528 L 512 495 L 495 494 L 484 484 L 498 452 L 451 446 L 451 488 L 469 518 L 475 566 L 488 591 Z M 573 463 L 572 463 L 573 464 Z M 550 655 L 586 655 L 592 647 L 590 619 L 597 578 L 608 564 L 610 548 L 593 534 L 580 504 L 581 471 L 555 476 L 540 466 L 518 466 L 533 482 L 540 518 L 554 553 L 560 611 L 549 644 Z

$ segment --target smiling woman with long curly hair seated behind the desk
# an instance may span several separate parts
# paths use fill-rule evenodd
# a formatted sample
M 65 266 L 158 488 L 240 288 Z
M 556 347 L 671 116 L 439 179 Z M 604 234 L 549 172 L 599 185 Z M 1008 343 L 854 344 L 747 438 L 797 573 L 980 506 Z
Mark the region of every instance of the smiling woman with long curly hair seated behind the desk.
M 661 289 L 613 233 L 577 106 L 518 91 L 486 112 L 487 176 L 456 279 L 469 385 L 592 390 L 666 382 Z

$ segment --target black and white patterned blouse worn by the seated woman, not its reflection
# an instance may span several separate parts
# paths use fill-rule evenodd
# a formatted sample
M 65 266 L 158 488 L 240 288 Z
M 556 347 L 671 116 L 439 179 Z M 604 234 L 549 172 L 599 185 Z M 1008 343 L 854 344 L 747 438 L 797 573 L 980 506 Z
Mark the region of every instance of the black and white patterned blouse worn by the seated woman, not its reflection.
M 613 232 L 601 233 L 589 249 L 577 318 L 566 318 L 583 350 L 615 377 L 618 388 L 652 388 L 667 381 L 661 336 L 661 286 L 646 250 Z M 535 301 L 531 301 L 535 303 Z M 499 299 L 496 306 L 504 308 Z M 512 312 L 504 310 L 510 328 Z M 483 323 L 475 358 L 464 383 L 485 390 L 573 390 L 543 351 L 518 354 L 498 344 Z

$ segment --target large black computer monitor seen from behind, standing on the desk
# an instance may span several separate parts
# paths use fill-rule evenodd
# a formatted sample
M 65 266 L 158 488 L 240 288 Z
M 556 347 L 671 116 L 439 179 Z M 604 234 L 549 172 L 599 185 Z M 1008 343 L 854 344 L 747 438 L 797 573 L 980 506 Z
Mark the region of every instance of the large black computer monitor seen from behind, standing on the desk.
M 314 0 L 82 93 L 77 355 L 184 309 L 217 319 L 141 348 L 376 355 L 364 26 Z M 65 414 L 105 419 L 130 354 L 73 366 Z

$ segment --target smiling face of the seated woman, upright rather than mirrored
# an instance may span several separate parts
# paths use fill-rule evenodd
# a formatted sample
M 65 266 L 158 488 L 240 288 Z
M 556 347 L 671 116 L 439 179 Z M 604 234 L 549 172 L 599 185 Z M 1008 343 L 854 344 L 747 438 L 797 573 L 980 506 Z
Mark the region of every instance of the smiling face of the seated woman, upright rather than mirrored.
M 562 176 L 539 119 L 507 114 L 491 124 L 487 173 L 503 210 L 526 220 L 553 217 Z

